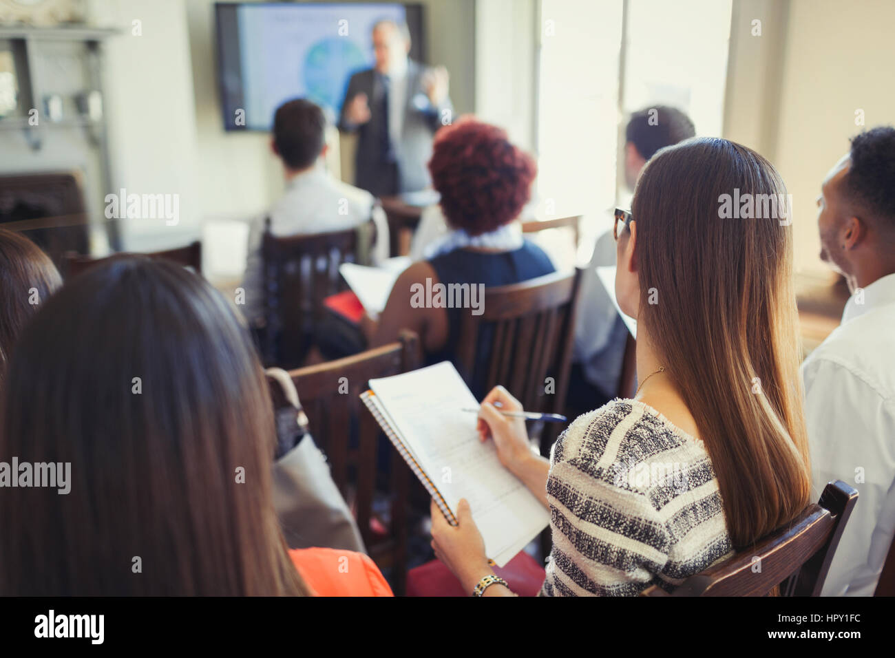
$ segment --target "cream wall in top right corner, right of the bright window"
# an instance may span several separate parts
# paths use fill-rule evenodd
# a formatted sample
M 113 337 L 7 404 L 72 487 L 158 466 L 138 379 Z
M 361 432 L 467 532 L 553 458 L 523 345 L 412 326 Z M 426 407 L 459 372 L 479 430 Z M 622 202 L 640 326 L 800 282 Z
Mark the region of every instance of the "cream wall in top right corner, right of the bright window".
M 753 19 L 761 37 L 751 36 Z M 818 256 L 823 176 L 850 137 L 895 123 L 893 22 L 890 0 L 735 0 L 724 136 L 780 170 L 802 274 L 832 277 Z M 866 126 L 856 124 L 857 109 Z

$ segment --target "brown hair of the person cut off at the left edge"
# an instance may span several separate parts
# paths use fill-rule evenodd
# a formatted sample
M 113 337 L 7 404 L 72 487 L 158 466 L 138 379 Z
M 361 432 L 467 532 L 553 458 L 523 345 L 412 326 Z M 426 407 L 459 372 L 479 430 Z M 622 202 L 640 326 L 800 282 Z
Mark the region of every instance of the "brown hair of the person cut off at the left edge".
M 0 387 L 21 329 L 59 286 L 59 271 L 37 244 L 0 228 Z

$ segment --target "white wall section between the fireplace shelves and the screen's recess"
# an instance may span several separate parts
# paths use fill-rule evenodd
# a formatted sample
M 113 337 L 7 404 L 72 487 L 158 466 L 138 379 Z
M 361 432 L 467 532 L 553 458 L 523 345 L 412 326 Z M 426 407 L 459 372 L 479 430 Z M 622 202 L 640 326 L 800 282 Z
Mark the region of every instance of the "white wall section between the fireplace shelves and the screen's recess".
M 199 235 L 202 199 L 185 0 L 108 1 L 123 29 L 106 49 L 106 113 L 112 190 L 178 194 L 180 218 L 124 219 L 124 248 L 152 251 Z M 140 21 L 141 34 L 133 34 Z

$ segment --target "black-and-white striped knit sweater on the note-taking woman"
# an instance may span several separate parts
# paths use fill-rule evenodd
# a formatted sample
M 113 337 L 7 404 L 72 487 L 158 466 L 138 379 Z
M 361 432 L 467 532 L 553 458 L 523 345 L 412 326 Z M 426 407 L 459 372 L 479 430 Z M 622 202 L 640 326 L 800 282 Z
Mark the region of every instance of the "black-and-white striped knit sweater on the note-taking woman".
M 671 590 L 733 552 L 702 442 L 635 400 L 613 400 L 563 432 L 547 499 L 553 550 L 541 595 Z

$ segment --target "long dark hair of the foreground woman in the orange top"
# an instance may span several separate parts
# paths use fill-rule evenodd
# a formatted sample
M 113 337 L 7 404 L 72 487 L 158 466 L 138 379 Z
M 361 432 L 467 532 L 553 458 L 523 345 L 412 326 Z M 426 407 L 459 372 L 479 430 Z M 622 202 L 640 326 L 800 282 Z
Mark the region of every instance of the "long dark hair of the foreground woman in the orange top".
M 0 492 L 0 594 L 307 593 L 271 498 L 267 384 L 202 278 L 90 269 L 34 317 L 9 381 L 0 459 L 68 462 L 71 491 Z

